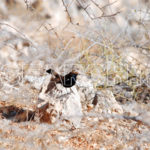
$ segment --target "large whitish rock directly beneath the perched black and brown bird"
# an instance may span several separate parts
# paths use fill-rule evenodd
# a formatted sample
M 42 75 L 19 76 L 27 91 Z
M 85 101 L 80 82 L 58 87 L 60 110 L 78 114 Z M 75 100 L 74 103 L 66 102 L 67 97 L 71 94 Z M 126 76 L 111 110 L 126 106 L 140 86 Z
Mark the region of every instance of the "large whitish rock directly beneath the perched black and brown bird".
M 47 91 L 47 87 L 51 82 L 51 75 L 46 76 L 41 92 L 39 94 L 38 108 L 42 108 L 45 104 L 49 104 L 46 110 L 50 114 L 50 122 L 54 123 L 58 118 L 68 120 L 78 128 L 82 118 L 82 107 L 80 95 L 76 86 L 65 88 L 61 83 L 55 84 L 55 87 Z

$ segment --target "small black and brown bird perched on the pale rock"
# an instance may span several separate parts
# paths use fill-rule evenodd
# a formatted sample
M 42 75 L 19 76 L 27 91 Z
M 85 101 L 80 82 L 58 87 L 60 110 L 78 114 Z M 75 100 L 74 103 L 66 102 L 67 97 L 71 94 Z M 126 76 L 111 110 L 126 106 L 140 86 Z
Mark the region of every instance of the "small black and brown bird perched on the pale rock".
M 70 73 L 68 73 L 64 76 L 58 74 L 57 72 L 55 72 L 52 69 L 48 69 L 48 70 L 46 70 L 46 72 L 53 75 L 51 78 L 51 81 L 48 84 L 46 93 L 48 91 L 51 91 L 57 83 L 62 84 L 63 87 L 65 87 L 65 88 L 71 88 L 72 86 L 74 86 L 76 84 L 76 79 L 77 79 L 78 73 L 75 71 L 71 71 Z

